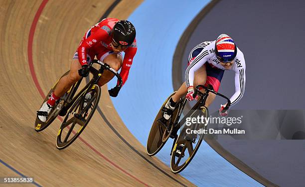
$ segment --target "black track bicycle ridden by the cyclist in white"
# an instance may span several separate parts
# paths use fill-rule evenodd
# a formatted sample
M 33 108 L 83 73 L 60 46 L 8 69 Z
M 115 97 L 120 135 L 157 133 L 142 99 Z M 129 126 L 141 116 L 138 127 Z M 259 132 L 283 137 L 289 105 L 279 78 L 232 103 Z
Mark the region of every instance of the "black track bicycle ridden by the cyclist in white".
M 200 92 L 199 88 L 204 88 L 205 91 Z M 168 120 L 165 120 L 162 116 L 162 110 L 166 110 L 164 106 L 171 96 L 174 95 L 174 92 L 165 100 L 152 123 L 152 128 L 147 142 L 147 154 L 149 156 L 157 154 L 165 145 L 168 138 L 174 139 L 170 151 L 170 168 L 173 173 L 179 173 L 184 170 L 194 158 L 200 147 L 205 134 L 194 134 L 190 132 L 202 132 L 207 129 L 208 124 L 192 123 L 186 125 L 186 122 L 187 118 L 207 118 L 209 116 L 209 111 L 207 107 L 205 107 L 205 102 L 209 92 L 226 99 L 227 105 L 224 108 L 224 112 L 228 110 L 231 102 L 226 96 L 215 92 L 211 85 L 208 85 L 207 87 L 204 85 L 197 85 L 193 96 L 195 97 L 196 95 L 199 95 L 200 98 L 181 120 L 180 117 L 182 116 L 182 111 L 186 103 L 184 97 L 177 102 L 176 107 Z

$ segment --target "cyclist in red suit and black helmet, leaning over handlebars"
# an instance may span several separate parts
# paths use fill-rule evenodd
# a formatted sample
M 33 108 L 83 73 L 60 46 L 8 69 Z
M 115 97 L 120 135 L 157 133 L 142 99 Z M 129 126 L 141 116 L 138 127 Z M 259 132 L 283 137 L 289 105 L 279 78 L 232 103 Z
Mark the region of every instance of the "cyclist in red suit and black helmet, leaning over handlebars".
M 122 56 L 123 51 L 125 52 L 124 59 Z M 49 100 L 43 103 L 39 111 L 37 111 L 37 117 L 42 122 L 47 120 L 47 116 L 55 102 L 81 77 L 88 76 L 89 64 L 95 57 L 107 63 L 116 71 L 122 67 L 120 76 L 124 85 L 136 52 L 136 29 L 130 21 L 105 18 L 92 26 L 85 33 L 74 54 L 69 74 L 59 80 Z M 99 81 L 99 86 L 103 86 L 113 77 L 114 75 L 111 72 L 104 71 Z M 119 91 L 120 87 L 116 86 L 109 90 L 109 94 L 112 97 L 116 97 Z M 87 97 L 90 97 L 90 95 L 86 95 Z

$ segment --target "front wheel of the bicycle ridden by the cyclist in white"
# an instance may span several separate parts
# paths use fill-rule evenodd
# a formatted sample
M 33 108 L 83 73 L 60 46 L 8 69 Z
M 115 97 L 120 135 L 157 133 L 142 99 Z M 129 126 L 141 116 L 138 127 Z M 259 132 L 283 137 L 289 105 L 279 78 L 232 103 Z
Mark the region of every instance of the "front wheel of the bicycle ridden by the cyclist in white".
M 208 109 L 205 106 L 201 106 L 197 110 L 194 110 L 189 117 L 203 116 L 207 118 Z M 206 130 L 207 124 L 191 124 L 190 126 L 184 125 L 180 134 L 177 138 L 177 141 L 174 144 L 174 147 L 171 152 L 170 159 L 170 169 L 173 173 L 177 174 L 184 170 L 190 161 L 194 158 L 197 153 L 200 144 L 203 140 L 204 134 L 188 134 L 189 130 Z M 203 131 L 201 131 L 203 132 Z

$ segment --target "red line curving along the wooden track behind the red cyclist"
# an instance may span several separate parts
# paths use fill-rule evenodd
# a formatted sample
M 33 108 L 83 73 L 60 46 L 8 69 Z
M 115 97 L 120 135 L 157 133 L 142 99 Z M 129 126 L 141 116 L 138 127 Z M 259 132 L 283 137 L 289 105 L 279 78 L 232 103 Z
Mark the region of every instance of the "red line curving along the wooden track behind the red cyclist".
M 33 38 L 34 38 L 34 33 L 35 33 L 35 29 L 36 29 L 36 25 L 38 22 L 38 19 L 40 17 L 40 14 L 43 10 L 43 8 L 45 7 L 46 3 L 48 2 L 48 0 L 43 0 L 35 14 L 35 17 L 33 19 L 30 31 L 29 31 L 29 36 L 28 36 L 28 43 L 27 43 L 27 56 L 28 56 L 28 65 L 29 65 L 29 69 L 31 72 L 31 76 L 32 79 L 35 83 L 35 86 L 39 92 L 39 94 L 41 95 L 42 98 L 45 98 L 45 95 L 39 85 L 38 79 L 36 77 L 36 73 L 34 70 L 34 64 L 33 64 L 33 50 L 32 50 L 32 45 L 33 45 Z M 62 118 L 59 117 L 59 120 L 62 121 Z M 112 162 L 111 160 L 109 160 L 107 157 L 105 157 L 101 152 L 97 151 L 94 147 L 92 147 L 88 142 L 86 142 L 84 139 L 82 139 L 81 137 L 78 137 L 86 146 L 88 146 L 92 151 L 94 151 L 96 154 L 98 154 L 100 157 L 102 157 L 104 160 L 106 160 L 108 163 L 110 163 L 112 166 L 114 166 L 115 168 L 119 169 L 120 171 L 122 171 L 123 173 L 125 173 L 126 175 L 130 176 L 131 178 L 135 179 L 136 181 L 140 182 L 141 184 L 149 187 L 149 185 L 147 185 L 146 183 L 140 181 L 138 178 L 136 178 L 135 176 L 131 175 L 130 173 L 128 173 L 126 170 L 122 169 L 121 167 L 119 167 L 117 164 L 115 164 L 114 162 Z

